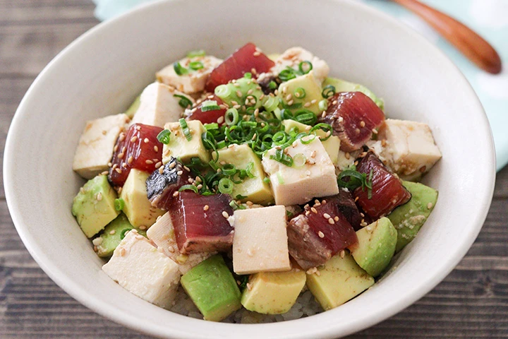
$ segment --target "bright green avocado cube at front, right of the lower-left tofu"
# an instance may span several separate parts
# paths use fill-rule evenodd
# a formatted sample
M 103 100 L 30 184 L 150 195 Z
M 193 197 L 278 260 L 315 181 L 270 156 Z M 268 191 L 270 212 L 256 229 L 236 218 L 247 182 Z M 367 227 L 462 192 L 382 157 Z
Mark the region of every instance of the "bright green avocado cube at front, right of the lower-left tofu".
M 182 275 L 181 285 L 205 320 L 221 321 L 241 308 L 236 280 L 218 254 Z

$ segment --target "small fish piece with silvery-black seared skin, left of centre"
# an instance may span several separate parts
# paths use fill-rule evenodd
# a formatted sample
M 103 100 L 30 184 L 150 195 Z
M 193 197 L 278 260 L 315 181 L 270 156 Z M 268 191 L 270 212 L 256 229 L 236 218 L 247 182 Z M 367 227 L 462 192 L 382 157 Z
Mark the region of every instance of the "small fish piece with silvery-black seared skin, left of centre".
M 190 172 L 183 169 L 181 162 L 176 157 L 164 165 L 162 172 L 156 169 L 146 181 L 147 196 L 152 206 L 167 210 L 171 199 L 174 199 L 174 192 L 181 186 L 188 184 Z

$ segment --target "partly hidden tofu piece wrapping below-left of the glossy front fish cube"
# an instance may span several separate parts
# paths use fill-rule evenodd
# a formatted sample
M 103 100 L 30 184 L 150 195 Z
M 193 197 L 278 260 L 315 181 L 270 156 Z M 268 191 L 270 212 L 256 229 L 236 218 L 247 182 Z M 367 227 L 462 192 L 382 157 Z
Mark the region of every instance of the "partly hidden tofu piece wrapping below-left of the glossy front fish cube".
M 147 237 L 157 245 L 157 249 L 178 264 L 179 271 L 182 275 L 198 265 L 201 261 L 215 254 L 215 252 L 181 254 L 176 244 L 173 222 L 171 222 L 171 215 L 169 212 L 158 218 L 155 224 L 147 230 Z

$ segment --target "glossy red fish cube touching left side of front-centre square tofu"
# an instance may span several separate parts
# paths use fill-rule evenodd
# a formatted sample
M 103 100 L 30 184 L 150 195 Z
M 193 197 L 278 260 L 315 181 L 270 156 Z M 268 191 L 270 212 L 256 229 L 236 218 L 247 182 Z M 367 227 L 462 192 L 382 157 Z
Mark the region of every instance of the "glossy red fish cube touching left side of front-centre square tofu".
M 181 191 L 172 200 L 171 222 L 182 254 L 227 251 L 233 244 L 233 208 L 227 194 Z

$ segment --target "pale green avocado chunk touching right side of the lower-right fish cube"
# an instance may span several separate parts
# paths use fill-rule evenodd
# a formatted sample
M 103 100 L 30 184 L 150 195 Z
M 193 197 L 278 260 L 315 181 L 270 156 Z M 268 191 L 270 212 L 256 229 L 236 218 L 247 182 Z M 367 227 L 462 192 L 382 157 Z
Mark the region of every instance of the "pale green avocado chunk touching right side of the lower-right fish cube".
M 397 244 L 397 230 L 388 218 L 381 218 L 356 231 L 358 244 L 351 249 L 356 263 L 373 277 L 392 260 Z

